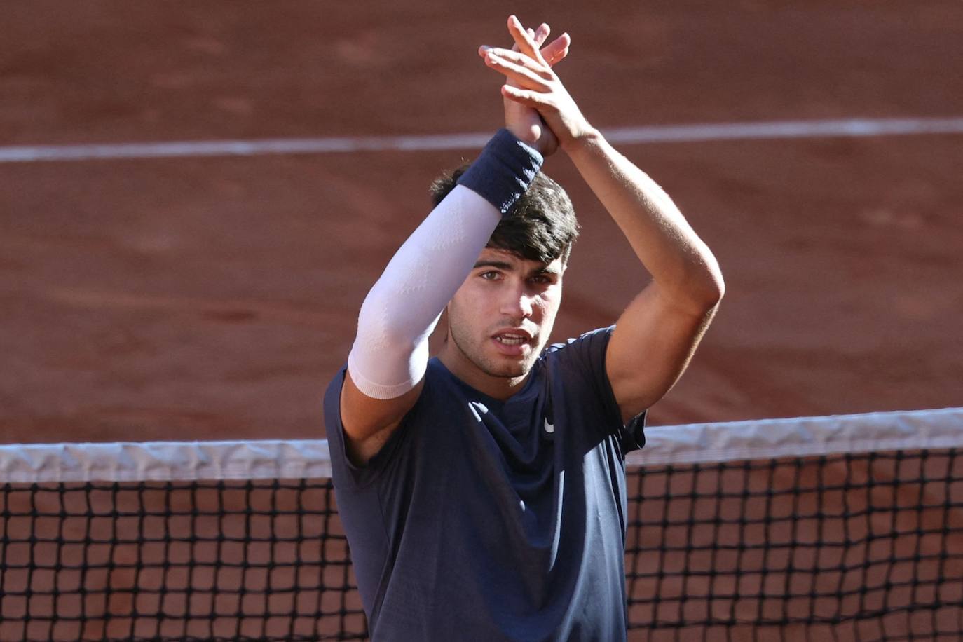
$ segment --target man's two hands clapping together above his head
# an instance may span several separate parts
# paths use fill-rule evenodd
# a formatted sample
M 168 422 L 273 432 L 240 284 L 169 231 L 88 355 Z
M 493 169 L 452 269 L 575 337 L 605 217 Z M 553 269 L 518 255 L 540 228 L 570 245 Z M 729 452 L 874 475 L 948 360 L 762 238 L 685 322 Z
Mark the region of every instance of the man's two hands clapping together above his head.
M 479 55 L 492 69 L 504 75 L 506 128 L 520 140 L 534 145 L 548 156 L 561 146 L 568 147 L 591 131 L 585 116 L 552 70 L 568 55 L 568 34 L 542 47 L 549 26 L 525 29 L 514 15 L 508 17 L 511 49 L 482 45 Z

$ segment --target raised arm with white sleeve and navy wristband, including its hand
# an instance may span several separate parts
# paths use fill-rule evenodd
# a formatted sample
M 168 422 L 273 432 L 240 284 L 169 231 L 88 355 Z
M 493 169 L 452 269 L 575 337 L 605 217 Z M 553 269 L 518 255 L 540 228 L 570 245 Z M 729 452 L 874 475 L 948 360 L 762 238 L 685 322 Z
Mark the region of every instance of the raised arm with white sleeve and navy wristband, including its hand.
M 535 49 L 548 38 L 529 33 Z M 541 49 L 547 64 L 568 54 L 568 37 Z M 458 185 L 405 241 L 368 293 L 348 356 L 341 420 L 355 464 L 367 462 L 421 394 L 428 340 L 502 215 L 524 193 L 558 142 L 534 110 L 507 105 L 507 129 L 485 146 Z M 531 145 L 531 146 L 530 146 Z

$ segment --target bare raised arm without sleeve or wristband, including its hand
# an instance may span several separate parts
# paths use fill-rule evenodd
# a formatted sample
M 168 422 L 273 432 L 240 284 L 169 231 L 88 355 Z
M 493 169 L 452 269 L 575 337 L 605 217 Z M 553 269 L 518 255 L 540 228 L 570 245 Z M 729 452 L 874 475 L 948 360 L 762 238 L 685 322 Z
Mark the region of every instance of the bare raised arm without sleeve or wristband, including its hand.
M 628 420 L 685 371 L 724 293 L 722 274 L 668 195 L 588 123 L 514 16 L 508 32 L 517 51 L 480 50 L 485 64 L 510 81 L 502 95 L 538 112 L 653 277 L 616 321 L 606 354 Z

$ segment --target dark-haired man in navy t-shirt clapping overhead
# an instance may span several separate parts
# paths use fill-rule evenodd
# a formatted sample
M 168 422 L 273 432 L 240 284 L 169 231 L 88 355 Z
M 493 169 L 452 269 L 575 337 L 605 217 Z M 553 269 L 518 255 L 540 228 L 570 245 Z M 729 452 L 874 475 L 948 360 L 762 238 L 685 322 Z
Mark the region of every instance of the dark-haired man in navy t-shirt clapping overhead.
M 561 85 L 567 35 L 540 50 L 547 25 L 511 16 L 508 31 L 513 50 L 480 50 L 508 81 L 506 130 L 436 184 L 325 395 L 376 641 L 626 638 L 624 456 L 723 293 L 708 247 Z M 576 236 L 567 196 L 536 175 L 557 148 L 653 280 L 614 326 L 545 348 Z

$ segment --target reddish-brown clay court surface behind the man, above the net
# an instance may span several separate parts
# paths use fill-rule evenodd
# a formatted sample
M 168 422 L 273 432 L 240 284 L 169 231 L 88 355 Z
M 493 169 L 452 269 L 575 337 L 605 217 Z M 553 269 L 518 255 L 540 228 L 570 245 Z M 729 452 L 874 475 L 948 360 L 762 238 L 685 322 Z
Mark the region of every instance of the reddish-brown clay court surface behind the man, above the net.
M 13 4 L 0 144 L 494 131 L 495 2 Z M 525 10 L 603 128 L 963 115 L 956 0 Z M 652 424 L 959 405 L 963 137 L 622 146 L 728 292 Z M 0 164 L 0 441 L 302 438 L 377 274 L 476 150 Z M 556 338 L 647 277 L 569 162 Z M 644 367 L 644 357 L 639 367 Z

